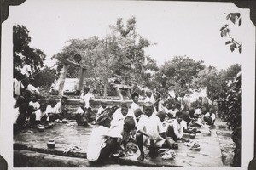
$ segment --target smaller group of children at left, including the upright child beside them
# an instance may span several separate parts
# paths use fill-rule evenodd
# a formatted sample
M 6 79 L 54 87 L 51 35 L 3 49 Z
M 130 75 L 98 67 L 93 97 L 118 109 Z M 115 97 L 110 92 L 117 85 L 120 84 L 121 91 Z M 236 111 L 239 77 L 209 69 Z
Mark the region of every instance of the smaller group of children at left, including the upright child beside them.
M 37 127 L 43 125 L 44 127 L 51 127 L 51 122 L 67 122 L 67 96 L 62 96 L 59 102 L 55 98 L 49 99 L 49 105 L 45 102 L 38 102 L 38 93 L 25 91 L 28 95 L 16 95 L 14 100 L 14 131 L 18 133 L 23 127 Z M 89 88 L 84 88 L 84 93 L 81 94 L 82 102 L 77 113 L 84 114 L 86 110 L 86 122 L 90 121 L 90 99 L 94 99 L 90 94 Z M 79 114 L 76 115 L 76 117 Z M 81 117 L 81 116 L 80 116 Z M 77 120 L 81 120 L 81 118 Z

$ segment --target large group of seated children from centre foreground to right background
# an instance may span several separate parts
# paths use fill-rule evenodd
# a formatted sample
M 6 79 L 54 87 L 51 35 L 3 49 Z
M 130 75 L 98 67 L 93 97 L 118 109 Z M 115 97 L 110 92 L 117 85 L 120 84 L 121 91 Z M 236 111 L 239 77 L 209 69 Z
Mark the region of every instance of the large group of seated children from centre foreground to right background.
M 118 150 L 128 150 L 129 142 L 137 144 L 140 155 L 138 161 L 145 158 L 144 145 L 148 146 L 149 156 L 155 156 L 159 148 L 177 149 L 178 140 L 183 133 L 196 133 L 195 127 L 213 126 L 215 111 L 201 112 L 200 108 L 189 108 L 179 111 L 175 105 L 169 108 L 161 105 L 156 108 L 152 93 L 147 92 L 147 98 L 138 105 L 139 94 L 131 95 L 130 108 L 124 102 L 119 107 L 108 107 L 102 102 L 96 114 L 96 127 L 90 136 L 87 149 L 87 159 L 91 162 L 101 162 Z M 190 128 L 189 128 L 190 127 Z M 193 128 L 191 128 L 193 127 Z M 211 131 L 209 130 L 211 133 Z

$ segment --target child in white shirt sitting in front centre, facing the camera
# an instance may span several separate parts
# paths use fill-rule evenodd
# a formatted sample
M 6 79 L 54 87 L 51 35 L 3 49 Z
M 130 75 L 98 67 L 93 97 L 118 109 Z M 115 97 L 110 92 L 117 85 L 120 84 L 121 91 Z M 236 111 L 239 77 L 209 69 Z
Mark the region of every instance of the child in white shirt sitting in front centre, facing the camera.
M 172 144 L 166 137 L 166 132 L 162 127 L 160 118 L 153 114 L 154 105 L 147 102 L 143 105 L 144 115 L 141 116 L 139 122 L 137 123 L 137 145 L 140 150 L 140 156 L 137 158 L 139 161 L 144 160 L 144 150 L 143 144 L 149 145 L 149 154 L 154 155 L 155 148 L 160 148 L 164 143 L 167 144 L 169 148 L 172 148 Z

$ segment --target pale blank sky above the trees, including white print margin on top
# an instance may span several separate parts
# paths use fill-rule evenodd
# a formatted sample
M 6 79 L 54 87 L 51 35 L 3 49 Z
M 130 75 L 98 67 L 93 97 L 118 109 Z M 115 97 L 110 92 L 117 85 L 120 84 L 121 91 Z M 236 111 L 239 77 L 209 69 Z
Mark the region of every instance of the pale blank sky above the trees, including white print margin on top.
M 174 56 L 187 56 L 202 60 L 218 70 L 235 63 L 242 64 L 244 53 L 231 53 L 220 37 L 219 29 L 225 24 L 231 27 L 230 34 L 237 42 L 246 40 L 254 33 L 248 11 L 233 3 L 195 2 L 136 2 L 136 1 L 38 1 L 27 0 L 20 6 L 9 8 L 9 25 L 23 25 L 30 31 L 31 47 L 39 48 L 47 55 L 45 65 L 54 65 L 50 58 L 61 52 L 67 41 L 93 36 L 105 37 L 109 25 L 118 18 L 124 21 L 135 16 L 137 32 L 154 46 L 145 48 L 145 54 L 155 59 L 158 65 Z M 239 12 L 241 26 L 225 19 L 226 14 Z

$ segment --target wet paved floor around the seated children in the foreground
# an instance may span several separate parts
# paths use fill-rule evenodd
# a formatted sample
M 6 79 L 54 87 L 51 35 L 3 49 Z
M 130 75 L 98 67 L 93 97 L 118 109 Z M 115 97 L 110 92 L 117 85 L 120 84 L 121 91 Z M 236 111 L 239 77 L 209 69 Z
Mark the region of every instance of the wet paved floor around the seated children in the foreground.
M 86 147 L 92 129 L 96 127 L 79 127 L 70 120 L 66 124 L 55 123 L 53 128 L 38 132 L 38 129 L 26 129 L 14 136 L 15 167 L 93 167 L 86 160 Z M 119 164 L 143 166 L 143 167 L 223 167 L 230 166 L 233 157 L 234 144 L 231 139 L 231 131 L 226 128 L 226 123 L 216 120 L 216 127 L 211 135 L 206 129 L 200 128 L 195 139 L 187 139 L 200 144 L 201 150 L 189 150 L 189 146 L 177 143 L 175 150 L 177 157 L 174 160 L 163 160 L 161 157 L 137 161 L 137 154 L 130 157 L 122 157 Z M 186 137 L 186 135 L 185 135 Z M 55 148 L 48 149 L 49 139 L 55 140 Z M 81 150 L 67 148 L 78 146 Z M 35 160 L 37 164 L 33 164 Z M 21 161 L 20 161 L 21 160 Z M 103 167 L 119 167 L 120 165 L 109 161 Z

